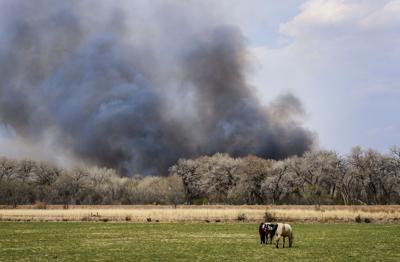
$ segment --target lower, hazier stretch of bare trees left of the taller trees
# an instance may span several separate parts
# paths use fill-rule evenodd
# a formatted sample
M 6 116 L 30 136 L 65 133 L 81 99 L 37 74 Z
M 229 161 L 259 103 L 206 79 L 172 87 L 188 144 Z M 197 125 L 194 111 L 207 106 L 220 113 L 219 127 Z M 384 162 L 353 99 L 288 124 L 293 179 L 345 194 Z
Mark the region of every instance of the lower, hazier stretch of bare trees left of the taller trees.
M 52 164 L 0 158 L 0 204 L 178 204 L 181 178 L 121 177 L 98 167 L 60 169 Z

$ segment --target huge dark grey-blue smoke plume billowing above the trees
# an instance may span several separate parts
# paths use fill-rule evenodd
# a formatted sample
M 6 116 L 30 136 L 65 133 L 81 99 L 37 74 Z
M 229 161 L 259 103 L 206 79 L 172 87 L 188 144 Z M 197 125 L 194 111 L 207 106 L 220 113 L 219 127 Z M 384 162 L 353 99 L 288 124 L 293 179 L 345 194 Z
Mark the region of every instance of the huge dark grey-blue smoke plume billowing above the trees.
M 127 175 L 215 152 L 310 149 L 301 103 L 260 103 L 246 39 L 214 7 L 111 2 L 0 3 L 0 129 Z

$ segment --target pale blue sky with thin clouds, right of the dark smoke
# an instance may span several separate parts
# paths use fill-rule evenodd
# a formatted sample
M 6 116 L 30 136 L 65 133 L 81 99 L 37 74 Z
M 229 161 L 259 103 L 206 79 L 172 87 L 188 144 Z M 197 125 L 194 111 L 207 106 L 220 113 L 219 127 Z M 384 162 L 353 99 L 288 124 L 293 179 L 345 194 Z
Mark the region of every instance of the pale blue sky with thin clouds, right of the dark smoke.
M 227 10 L 249 38 L 266 101 L 297 95 L 324 148 L 399 144 L 400 1 L 234 2 Z

